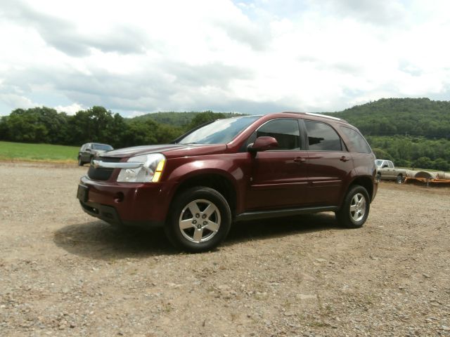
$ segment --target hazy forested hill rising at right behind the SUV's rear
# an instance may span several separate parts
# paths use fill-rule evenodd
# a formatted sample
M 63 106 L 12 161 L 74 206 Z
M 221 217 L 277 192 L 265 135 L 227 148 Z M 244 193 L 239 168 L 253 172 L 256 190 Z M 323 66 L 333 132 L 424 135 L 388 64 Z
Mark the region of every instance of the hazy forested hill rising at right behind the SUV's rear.
M 450 139 L 450 101 L 382 98 L 342 112 L 326 113 L 353 124 L 365 136 L 423 136 Z

